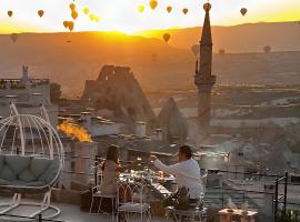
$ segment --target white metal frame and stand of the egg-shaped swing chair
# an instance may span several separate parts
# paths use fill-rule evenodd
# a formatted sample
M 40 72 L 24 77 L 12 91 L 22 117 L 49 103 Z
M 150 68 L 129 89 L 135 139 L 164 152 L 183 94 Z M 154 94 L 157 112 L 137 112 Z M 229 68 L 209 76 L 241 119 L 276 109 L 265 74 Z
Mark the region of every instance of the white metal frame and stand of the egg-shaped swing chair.
M 43 216 L 43 219 L 56 218 L 56 216 L 58 216 L 60 214 L 61 211 L 57 206 L 50 205 L 50 202 L 51 202 L 51 189 L 58 182 L 58 180 L 59 180 L 59 178 L 61 175 L 61 171 L 62 171 L 62 169 L 64 167 L 64 150 L 63 150 L 62 142 L 60 141 L 58 132 L 51 125 L 49 115 L 47 113 L 47 110 L 42 104 L 40 105 L 41 117 L 37 117 L 37 115 L 32 115 L 32 114 L 19 114 L 19 112 L 17 110 L 17 107 L 12 102 L 10 103 L 10 108 L 11 108 L 11 115 L 8 117 L 7 119 L 3 119 L 3 120 L 0 121 L 0 123 L 2 123 L 2 125 L 0 125 L 0 131 L 4 129 L 3 130 L 4 134 L 2 135 L 2 138 L 3 139 L 6 138 L 6 134 L 7 134 L 7 131 L 8 131 L 4 128 L 6 125 L 14 125 L 16 128 L 18 128 L 19 133 L 20 133 L 20 143 L 21 143 L 21 153 L 20 153 L 20 155 L 26 155 L 26 135 L 24 135 L 24 132 L 23 132 L 23 130 L 24 130 L 24 124 L 23 123 L 26 123 L 26 121 L 27 121 L 28 124 L 29 124 L 31 133 L 32 133 L 32 129 L 37 129 L 40 139 L 42 139 L 42 137 L 46 138 L 46 140 L 47 140 L 46 145 L 48 147 L 48 151 L 49 151 L 48 159 L 53 160 L 54 155 L 56 155 L 56 158 L 59 159 L 59 161 L 60 161 L 60 165 L 59 165 L 59 169 L 58 169 L 58 173 L 56 174 L 56 178 L 47 185 L 43 185 L 43 186 L 0 185 L 0 188 L 16 191 L 12 199 L 11 199 L 11 201 L 9 203 L 0 204 L 0 206 L 3 208 L 3 210 L 0 211 L 0 214 L 9 213 L 10 211 L 12 211 L 12 210 L 14 210 L 17 208 L 21 208 L 21 206 L 23 206 L 23 208 L 24 206 L 34 206 L 34 208 L 37 208 L 37 211 L 33 212 L 30 215 L 26 215 L 26 218 L 28 218 L 28 220 L 24 219 L 23 216 L 22 216 L 22 219 L 17 219 L 16 218 L 13 220 L 14 221 L 32 221 L 32 220 L 34 220 L 34 218 L 38 216 L 38 214 L 41 214 L 47 210 L 52 210 L 54 213 L 51 213 L 51 214 L 49 214 L 47 216 Z M 16 121 L 16 122 L 13 122 L 13 121 Z M 46 133 L 44 128 L 48 130 L 49 134 Z M 16 139 L 14 137 L 13 137 L 13 142 L 14 142 L 14 139 Z M 1 145 L 0 145 L 0 153 L 2 153 L 3 139 L 2 139 Z M 30 139 L 28 139 L 28 140 L 30 140 Z M 31 140 L 33 142 L 33 138 L 31 138 Z M 57 153 L 54 153 L 54 149 L 56 149 Z M 42 151 L 43 151 L 43 147 L 42 147 Z M 18 154 L 17 149 L 12 148 L 12 150 L 10 151 L 10 154 Z M 43 155 L 46 155 L 44 152 L 43 152 Z M 22 193 L 27 193 L 28 191 L 34 191 L 34 192 L 40 191 L 41 192 L 41 191 L 44 191 L 44 190 L 46 190 L 46 193 L 43 192 L 44 195 L 43 195 L 43 200 L 42 200 L 41 203 L 21 201 Z M 1 219 L 2 220 L 10 220 L 9 216 L 1 216 Z

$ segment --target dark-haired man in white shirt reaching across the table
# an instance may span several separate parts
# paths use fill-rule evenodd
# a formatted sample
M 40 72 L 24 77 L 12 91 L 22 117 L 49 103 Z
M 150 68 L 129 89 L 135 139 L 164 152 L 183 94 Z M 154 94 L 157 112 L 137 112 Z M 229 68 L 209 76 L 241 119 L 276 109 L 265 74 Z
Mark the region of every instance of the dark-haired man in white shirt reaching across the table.
M 163 164 L 156 155 L 150 155 L 149 160 L 153 162 L 159 170 L 176 176 L 178 189 L 188 189 L 188 195 L 191 200 L 197 200 L 203 192 L 203 183 L 200 175 L 200 167 L 192 159 L 192 151 L 189 145 L 182 145 L 178 151 L 179 162 L 173 165 Z

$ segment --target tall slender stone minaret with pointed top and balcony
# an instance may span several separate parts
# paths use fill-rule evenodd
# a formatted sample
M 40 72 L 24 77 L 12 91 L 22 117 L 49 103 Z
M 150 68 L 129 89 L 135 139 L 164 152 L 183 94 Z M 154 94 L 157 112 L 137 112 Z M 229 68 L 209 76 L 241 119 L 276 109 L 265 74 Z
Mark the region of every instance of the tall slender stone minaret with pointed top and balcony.
M 202 37 L 200 41 L 200 58 L 196 62 L 194 84 L 198 88 L 198 118 L 200 121 L 201 133 L 209 133 L 210 125 L 210 100 L 211 89 L 216 83 L 216 75 L 211 74 L 212 62 L 212 39 L 209 11 L 210 3 L 204 3 L 206 19 L 202 28 Z M 200 61 L 200 62 L 198 62 Z

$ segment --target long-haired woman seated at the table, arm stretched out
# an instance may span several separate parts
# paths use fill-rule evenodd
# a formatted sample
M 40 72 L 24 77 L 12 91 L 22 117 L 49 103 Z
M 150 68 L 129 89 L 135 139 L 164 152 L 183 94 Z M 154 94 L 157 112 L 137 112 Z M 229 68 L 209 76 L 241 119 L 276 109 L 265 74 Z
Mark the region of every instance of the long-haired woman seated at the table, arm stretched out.
M 116 179 L 119 176 L 120 172 L 132 169 L 137 167 L 141 161 L 136 160 L 134 162 L 121 167 L 119 163 L 119 147 L 110 145 L 107 151 L 107 159 L 102 164 L 103 179 L 99 191 L 103 194 L 114 195 L 117 194 Z

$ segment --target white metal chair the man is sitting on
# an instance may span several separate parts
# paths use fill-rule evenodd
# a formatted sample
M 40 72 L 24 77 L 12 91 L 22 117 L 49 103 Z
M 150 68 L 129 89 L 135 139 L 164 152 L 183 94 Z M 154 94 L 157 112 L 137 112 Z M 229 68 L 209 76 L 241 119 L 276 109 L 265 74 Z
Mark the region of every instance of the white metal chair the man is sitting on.
M 208 171 L 201 176 L 200 183 L 202 184 L 203 191 L 200 193 L 199 202 L 196 203 L 194 208 L 188 210 L 178 210 L 173 206 L 166 208 L 167 221 L 172 218 L 176 222 L 186 221 L 207 221 L 207 208 L 204 208 L 204 193 L 207 186 Z

